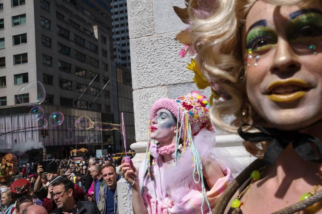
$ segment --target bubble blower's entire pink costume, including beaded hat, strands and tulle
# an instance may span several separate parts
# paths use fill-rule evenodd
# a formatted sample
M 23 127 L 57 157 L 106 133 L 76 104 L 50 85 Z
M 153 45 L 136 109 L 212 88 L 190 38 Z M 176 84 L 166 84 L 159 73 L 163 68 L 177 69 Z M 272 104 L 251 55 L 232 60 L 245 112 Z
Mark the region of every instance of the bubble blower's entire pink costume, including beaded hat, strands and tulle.
M 148 213 L 211 213 L 221 193 L 232 182 L 232 173 L 239 173 L 242 167 L 226 150 L 214 148 L 215 134 L 207 130 L 210 106 L 200 92 L 192 91 L 174 100 L 157 100 L 150 111 L 151 121 L 161 108 L 177 118 L 180 132 L 176 143 L 168 146 L 160 147 L 149 139 L 146 160 L 139 168 L 142 198 Z M 164 163 L 164 154 L 172 154 L 174 159 Z M 152 164 L 150 155 L 154 158 Z M 213 166 L 224 177 L 206 189 L 203 169 Z

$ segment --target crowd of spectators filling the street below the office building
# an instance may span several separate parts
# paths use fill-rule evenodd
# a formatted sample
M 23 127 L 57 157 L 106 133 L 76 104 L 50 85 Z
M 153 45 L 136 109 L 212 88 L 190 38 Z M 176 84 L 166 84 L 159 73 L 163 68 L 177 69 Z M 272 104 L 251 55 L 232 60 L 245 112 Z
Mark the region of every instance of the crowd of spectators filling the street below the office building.
M 116 167 L 121 160 L 114 161 L 112 155 L 64 158 L 54 160 L 57 170 L 51 172 L 44 171 L 41 162 L 27 163 L 19 177 L 0 182 L 0 214 L 118 213 Z

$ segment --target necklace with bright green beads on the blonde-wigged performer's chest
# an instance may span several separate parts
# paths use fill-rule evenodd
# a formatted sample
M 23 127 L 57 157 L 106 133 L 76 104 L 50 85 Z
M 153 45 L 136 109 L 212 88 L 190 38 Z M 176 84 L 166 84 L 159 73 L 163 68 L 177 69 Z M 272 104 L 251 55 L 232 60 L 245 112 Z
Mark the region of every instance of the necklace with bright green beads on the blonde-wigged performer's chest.
M 232 214 L 243 214 L 242 209 L 244 208 L 245 203 L 247 201 L 251 186 L 253 185 L 253 183 L 255 181 L 258 181 L 260 179 L 260 174 L 263 173 L 265 168 L 266 168 L 266 166 L 261 167 L 259 170 L 252 171 L 251 176 L 250 176 L 251 183 L 241 193 L 239 193 L 239 195 L 234 200 L 232 200 L 232 204 L 231 204 Z M 320 187 L 321 187 L 321 185 L 314 185 L 314 187 L 311 190 L 311 192 L 304 193 L 300 197 L 300 201 L 304 201 L 305 199 L 307 199 L 307 198 L 311 197 L 312 195 L 314 195 Z M 246 193 L 245 200 L 241 201 L 240 199 L 245 193 Z M 309 210 L 309 209 L 313 208 L 313 206 L 314 205 L 311 205 L 311 206 L 307 207 L 306 209 Z

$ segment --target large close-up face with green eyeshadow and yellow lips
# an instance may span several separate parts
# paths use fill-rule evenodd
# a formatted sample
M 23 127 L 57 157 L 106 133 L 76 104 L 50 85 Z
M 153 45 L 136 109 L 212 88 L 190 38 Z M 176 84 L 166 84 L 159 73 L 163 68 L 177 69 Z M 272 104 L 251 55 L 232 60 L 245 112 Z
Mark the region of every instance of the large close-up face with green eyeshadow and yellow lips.
M 242 38 L 246 91 L 268 126 L 303 129 L 322 118 L 322 7 L 257 1 Z

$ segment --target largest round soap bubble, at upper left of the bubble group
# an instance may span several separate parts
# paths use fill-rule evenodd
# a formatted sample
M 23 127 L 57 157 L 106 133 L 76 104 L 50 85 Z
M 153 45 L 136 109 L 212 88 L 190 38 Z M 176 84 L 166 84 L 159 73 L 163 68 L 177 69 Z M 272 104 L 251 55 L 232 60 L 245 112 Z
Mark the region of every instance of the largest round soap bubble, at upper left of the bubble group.
M 17 93 L 18 101 L 24 106 L 38 106 L 45 100 L 45 97 L 45 88 L 40 81 L 29 82 Z

